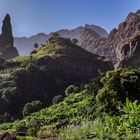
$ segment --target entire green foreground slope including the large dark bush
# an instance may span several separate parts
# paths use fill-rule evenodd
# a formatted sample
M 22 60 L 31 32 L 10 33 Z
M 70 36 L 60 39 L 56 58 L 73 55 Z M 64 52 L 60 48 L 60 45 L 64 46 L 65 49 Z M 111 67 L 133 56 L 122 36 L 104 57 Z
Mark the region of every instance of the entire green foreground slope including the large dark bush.
M 74 85 L 58 103 L 3 123 L 0 130 L 62 140 L 138 140 L 140 137 L 140 70 L 119 68 L 79 92 Z

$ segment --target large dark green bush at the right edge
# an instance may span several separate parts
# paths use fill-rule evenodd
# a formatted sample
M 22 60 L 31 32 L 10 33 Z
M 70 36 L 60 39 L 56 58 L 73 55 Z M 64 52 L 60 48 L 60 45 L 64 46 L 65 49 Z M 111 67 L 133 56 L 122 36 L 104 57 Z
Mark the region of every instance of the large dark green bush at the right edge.
M 140 70 L 119 68 L 107 72 L 101 79 L 103 87 L 96 96 L 97 102 L 106 108 L 116 108 L 119 102 L 140 100 Z

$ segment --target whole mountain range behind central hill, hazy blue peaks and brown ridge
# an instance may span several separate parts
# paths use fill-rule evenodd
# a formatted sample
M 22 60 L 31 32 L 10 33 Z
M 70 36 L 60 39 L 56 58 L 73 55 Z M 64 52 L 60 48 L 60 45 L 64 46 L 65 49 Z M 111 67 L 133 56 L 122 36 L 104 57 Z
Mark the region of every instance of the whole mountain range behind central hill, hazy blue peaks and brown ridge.
M 124 45 L 129 44 L 136 32 L 140 32 L 140 10 L 129 13 L 127 18 L 117 28 L 112 29 L 109 34 L 99 26 L 88 24 L 76 29 L 62 29 L 57 32 L 64 38 L 78 39 L 79 46 L 94 54 L 105 56 L 116 65 L 125 58 L 124 55 L 127 55 L 122 54 Z M 14 45 L 20 55 L 27 55 L 33 50 L 35 42 L 44 44 L 51 35 L 52 33 L 39 33 L 29 38 L 17 37 Z M 131 52 L 133 51 L 128 53 L 132 55 Z

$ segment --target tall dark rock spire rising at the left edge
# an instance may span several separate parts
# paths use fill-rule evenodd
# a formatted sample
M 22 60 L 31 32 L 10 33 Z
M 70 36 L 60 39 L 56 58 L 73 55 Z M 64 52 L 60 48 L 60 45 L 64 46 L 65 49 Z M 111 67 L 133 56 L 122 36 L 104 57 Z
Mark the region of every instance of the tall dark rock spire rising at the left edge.
M 18 51 L 13 47 L 14 38 L 10 16 L 7 14 L 3 20 L 2 33 L 0 35 L 0 58 L 11 59 L 18 56 Z

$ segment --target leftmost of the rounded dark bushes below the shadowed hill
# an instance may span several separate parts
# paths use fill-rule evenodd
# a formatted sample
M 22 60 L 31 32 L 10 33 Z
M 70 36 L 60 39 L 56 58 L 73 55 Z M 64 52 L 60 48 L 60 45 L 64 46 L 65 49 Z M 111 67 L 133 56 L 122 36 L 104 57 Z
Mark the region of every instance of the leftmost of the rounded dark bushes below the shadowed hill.
M 37 112 L 42 108 L 42 103 L 40 101 L 32 101 L 31 103 L 27 103 L 22 111 L 23 116 L 28 116 L 33 112 Z

